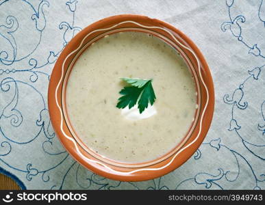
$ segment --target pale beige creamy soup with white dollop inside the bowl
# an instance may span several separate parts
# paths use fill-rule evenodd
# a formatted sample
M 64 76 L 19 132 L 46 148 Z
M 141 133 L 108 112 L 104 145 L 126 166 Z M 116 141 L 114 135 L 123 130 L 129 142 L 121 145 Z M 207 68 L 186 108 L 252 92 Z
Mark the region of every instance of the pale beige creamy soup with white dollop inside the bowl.
M 121 78 L 153 79 L 156 100 L 139 113 L 118 109 Z M 68 79 L 66 107 L 79 138 L 98 154 L 126 163 L 151 161 L 185 137 L 197 107 L 192 75 L 179 53 L 147 33 L 105 36 L 82 53 Z

